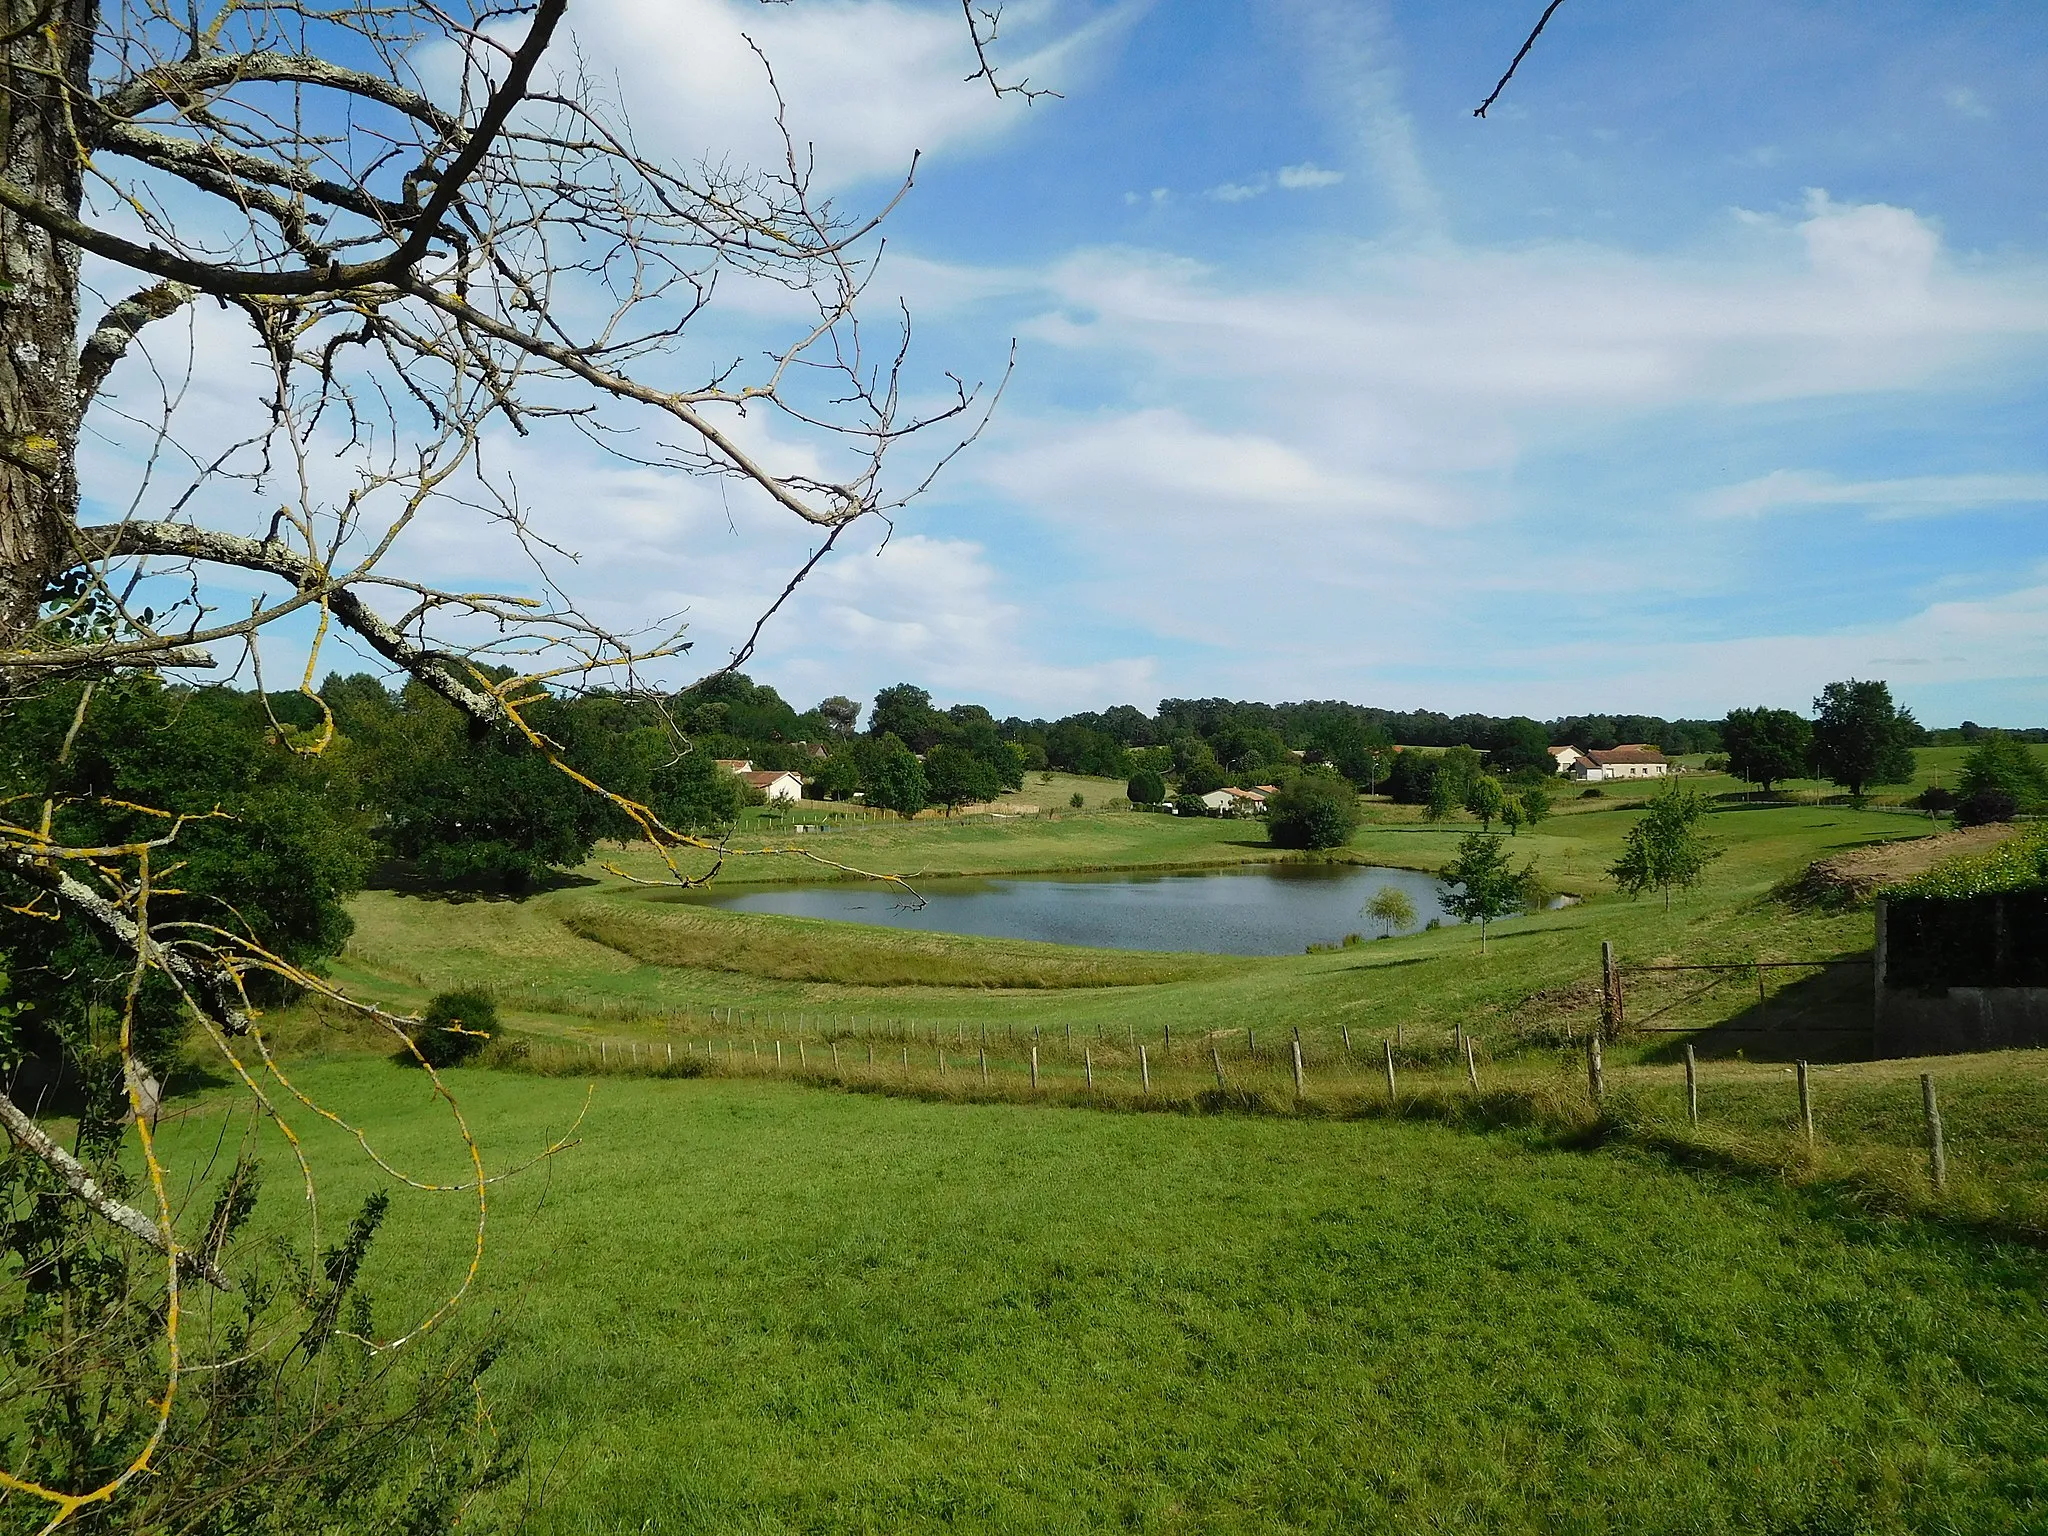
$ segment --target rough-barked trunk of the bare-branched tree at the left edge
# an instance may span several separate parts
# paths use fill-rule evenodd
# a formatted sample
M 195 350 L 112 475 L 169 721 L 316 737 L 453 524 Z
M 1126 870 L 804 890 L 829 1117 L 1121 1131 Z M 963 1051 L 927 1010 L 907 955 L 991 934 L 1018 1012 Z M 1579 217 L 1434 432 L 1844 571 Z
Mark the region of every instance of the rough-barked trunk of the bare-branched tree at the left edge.
M 37 12 L 47 8 L 47 25 Z M 70 111 L 90 82 L 98 0 L 0 0 L 6 176 L 76 215 L 84 186 Z M 20 645 L 78 516 L 78 252 L 0 211 L 0 647 Z

